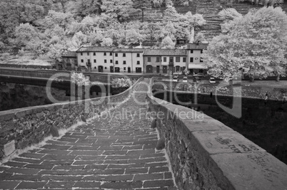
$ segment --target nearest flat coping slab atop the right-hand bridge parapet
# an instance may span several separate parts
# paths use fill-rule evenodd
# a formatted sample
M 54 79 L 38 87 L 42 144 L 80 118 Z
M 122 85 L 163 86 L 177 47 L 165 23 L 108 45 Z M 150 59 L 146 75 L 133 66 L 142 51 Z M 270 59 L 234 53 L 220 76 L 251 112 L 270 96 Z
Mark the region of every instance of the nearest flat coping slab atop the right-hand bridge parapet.
M 287 166 L 267 152 L 211 155 L 209 169 L 221 189 L 286 189 Z

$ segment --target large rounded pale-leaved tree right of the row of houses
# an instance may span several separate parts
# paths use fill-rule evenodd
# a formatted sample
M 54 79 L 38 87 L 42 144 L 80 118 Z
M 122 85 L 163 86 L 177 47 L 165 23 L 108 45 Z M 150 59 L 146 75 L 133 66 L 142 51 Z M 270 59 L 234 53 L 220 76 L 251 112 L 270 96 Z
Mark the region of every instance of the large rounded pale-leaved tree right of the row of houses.
M 286 73 L 287 15 L 280 7 L 250 11 L 229 24 L 230 31 L 213 38 L 204 53 L 208 73 L 221 78 Z

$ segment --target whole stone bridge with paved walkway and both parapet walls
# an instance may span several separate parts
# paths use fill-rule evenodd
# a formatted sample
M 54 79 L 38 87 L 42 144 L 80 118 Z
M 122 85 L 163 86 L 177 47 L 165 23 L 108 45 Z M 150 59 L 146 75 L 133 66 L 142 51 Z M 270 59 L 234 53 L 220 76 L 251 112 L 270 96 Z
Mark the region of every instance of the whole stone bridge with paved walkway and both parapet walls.
M 286 189 L 286 164 L 152 83 L 0 112 L 0 189 Z

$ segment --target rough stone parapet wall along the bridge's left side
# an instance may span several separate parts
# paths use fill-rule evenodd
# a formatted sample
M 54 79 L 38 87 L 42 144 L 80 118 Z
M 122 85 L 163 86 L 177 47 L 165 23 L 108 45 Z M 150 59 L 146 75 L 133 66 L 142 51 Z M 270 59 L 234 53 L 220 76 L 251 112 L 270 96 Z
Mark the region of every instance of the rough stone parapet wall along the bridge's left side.
M 115 107 L 129 97 L 142 79 L 118 95 L 0 112 L 0 159 L 7 156 L 4 147 L 11 142 L 16 149 L 23 149 L 49 136 L 52 126 L 69 128 L 81 120 L 81 116 L 91 118 Z

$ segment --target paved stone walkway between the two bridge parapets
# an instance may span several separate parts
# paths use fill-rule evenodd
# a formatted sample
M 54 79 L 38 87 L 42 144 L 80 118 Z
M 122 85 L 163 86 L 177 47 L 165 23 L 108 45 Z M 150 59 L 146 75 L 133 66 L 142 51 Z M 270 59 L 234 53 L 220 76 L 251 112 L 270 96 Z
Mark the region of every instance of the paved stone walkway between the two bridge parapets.
M 146 101 L 145 94 L 135 97 Z M 0 189 L 176 189 L 146 112 L 131 97 L 110 114 L 20 154 L 0 167 Z

